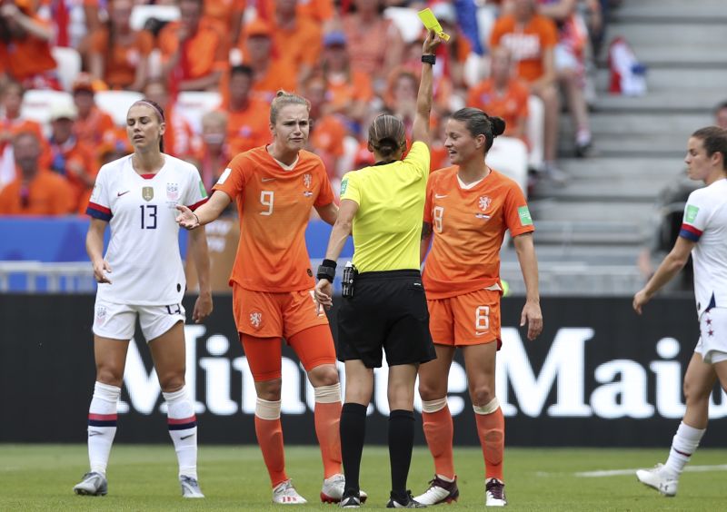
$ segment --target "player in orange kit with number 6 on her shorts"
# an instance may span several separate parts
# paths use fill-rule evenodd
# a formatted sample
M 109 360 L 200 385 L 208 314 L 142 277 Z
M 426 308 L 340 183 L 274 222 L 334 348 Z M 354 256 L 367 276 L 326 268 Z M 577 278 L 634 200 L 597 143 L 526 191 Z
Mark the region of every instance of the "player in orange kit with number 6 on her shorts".
M 434 458 L 434 478 L 416 501 L 433 505 L 459 496 L 454 473 L 452 416 L 447 377 L 461 347 L 485 462 L 488 506 L 507 502 L 503 484 L 504 418 L 495 398 L 495 354 L 500 348 L 500 247 L 513 236 L 527 299 L 520 323 L 528 339 L 543 330 L 533 221 L 517 183 L 490 169 L 484 157 L 504 132 L 499 117 L 475 108 L 453 113 L 444 143 L 452 167 L 433 172 L 427 183 L 422 232 L 423 282 L 437 359 L 419 368 L 424 436 Z

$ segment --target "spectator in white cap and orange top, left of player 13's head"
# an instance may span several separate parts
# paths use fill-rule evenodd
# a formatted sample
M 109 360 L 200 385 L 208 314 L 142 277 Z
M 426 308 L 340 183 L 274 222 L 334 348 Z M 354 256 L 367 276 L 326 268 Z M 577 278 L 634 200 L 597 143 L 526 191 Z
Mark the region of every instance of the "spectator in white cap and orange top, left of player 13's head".
M 51 136 L 45 166 L 57 172 L 73 188 L 73 207 L 77 209 L 85 192 L 94 188 L 96 160 L 93 146 L 81 143 L 74 133 L 78 110 L 73 104 L 58 104 L 51 111 Z

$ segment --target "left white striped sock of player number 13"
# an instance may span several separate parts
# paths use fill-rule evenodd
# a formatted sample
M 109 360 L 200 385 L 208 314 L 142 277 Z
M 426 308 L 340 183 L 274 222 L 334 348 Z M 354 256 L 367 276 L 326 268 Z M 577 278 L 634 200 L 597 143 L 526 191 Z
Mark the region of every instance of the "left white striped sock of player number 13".
M 116 408 L 121 388 L 96 382 L 88 408 L 88 460 L 91 471 L 105 476 L 116 435 Z

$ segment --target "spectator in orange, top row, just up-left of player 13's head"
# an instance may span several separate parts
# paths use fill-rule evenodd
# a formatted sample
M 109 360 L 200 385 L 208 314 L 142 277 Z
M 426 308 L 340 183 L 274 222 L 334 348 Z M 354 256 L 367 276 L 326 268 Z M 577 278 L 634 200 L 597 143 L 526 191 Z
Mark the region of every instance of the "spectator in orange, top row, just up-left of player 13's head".
M 133 0 L 111 0 L 108 21 L 91 35 L 88 67 L 111 89 L 141 91 L 149 74 L 154 37 L 129 25 Z

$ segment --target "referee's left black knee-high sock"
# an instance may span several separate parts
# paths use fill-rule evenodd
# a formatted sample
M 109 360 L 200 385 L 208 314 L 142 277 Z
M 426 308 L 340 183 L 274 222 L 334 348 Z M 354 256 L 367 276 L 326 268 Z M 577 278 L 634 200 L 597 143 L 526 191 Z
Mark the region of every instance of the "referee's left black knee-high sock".
M 344 459 L 346 478 L 344 496 L 358 496 L 360 490 L 358 480 L 366 437 L 366 409 L 366 406 L 356 403 L 344 403 L 341 409 L 341 458 Z

